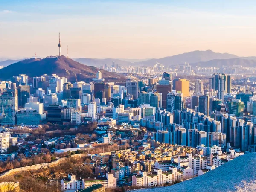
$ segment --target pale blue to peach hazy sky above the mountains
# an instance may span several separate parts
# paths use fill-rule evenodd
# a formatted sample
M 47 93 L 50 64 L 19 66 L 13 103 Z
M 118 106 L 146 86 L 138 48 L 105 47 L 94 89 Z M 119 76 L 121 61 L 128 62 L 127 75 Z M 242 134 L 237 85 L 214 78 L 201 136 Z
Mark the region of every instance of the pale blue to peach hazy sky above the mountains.
M 156 3 L 157 2 L 157 3 Z M 0 0 L 0 58 L 256 55 L 255 0 Z

